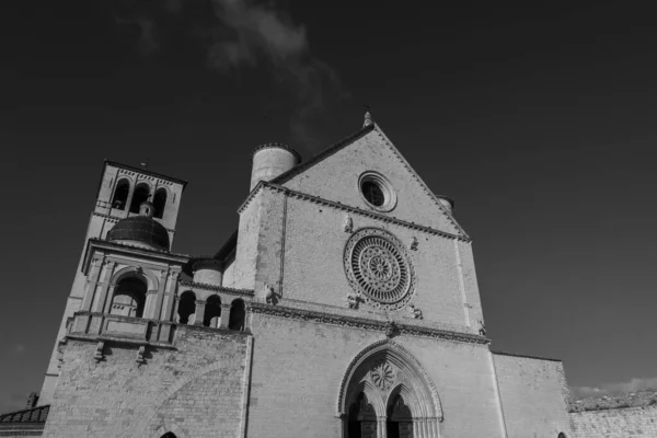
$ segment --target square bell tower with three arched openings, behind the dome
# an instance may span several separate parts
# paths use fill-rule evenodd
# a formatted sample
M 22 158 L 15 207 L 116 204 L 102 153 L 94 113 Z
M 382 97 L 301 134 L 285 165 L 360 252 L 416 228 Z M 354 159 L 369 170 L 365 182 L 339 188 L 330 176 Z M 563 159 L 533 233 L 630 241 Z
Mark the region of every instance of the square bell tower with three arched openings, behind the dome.
M 141 204 L 149 200 L 152 203 L 153 219 L 166 229 L 169 242 L 173 243 L 182 195 L 186 185 L 186 181 L 151 172 L 148 169 L 105 160 L 82 254 L 42 387 L 39 404 L 50 403 L 59 377 L 57 360 L 59 343 L 66 334 L 67 321 L 80 310 L 84 297 L 87 277 L 81 272 L 81 266 L 89 240 L 105 239 L 116 222 L 127 217 L 139 216 Z

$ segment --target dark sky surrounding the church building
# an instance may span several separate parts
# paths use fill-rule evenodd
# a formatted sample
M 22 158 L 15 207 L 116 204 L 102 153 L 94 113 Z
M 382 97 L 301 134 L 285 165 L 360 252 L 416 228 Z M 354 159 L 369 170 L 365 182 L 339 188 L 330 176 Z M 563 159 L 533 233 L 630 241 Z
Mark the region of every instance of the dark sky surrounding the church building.
M 188 180 L 174 251 L 212 253 L 255 146 L 308 158 L 366 104 L 456 199 L 493 348 L 655 384 L 649 2 L 451 3 L 2 2 L 0 411 L 41 389 L 103 159 Z

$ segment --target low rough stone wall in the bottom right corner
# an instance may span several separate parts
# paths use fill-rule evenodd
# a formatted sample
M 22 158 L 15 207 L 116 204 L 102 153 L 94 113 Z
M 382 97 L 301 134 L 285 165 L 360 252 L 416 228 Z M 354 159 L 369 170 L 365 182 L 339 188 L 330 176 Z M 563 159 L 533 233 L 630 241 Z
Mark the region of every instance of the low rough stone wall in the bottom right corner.
M 578 400 L 570 420 L 575 438 L 657 437 L 657 391 Z

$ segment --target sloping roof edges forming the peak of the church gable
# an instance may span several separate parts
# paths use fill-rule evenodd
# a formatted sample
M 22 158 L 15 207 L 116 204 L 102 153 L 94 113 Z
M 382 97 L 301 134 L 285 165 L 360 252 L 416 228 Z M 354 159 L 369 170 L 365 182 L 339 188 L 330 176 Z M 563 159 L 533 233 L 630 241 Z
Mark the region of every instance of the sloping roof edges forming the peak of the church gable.
M 435 200 L 436 205 L 438 206 L 438 208 L 440 210 L 442 210 L 442 212 L 445 214 L 445 216 L 447 216 L 447 218 L 453 223 L 453 226 L 457 228 L 457 230 L 464 238 L 470 239 L 470 237 L 468 235 L 468 233 L 465 232 L 465 230 L 463 230 L 463 228 L 457 222 L 457 220 L 448 211 L 448 209 L 442 206 L 442 204 L 438 200 L 438 198 L 447 199 L 452 206 L 453 206 L 453 200 L 450 199 L 450 198 L 448 198 L 448 197 L 446 197 L 446 196 L 440 196 L 440 195 L 434 194 L 434 192 L 431 192 L 431 189 L 427 186 L 427 184 L 422 180 L 422 177 L 417 174 L 417 172 L 415 172 L 415 170 L 411 166 L 411 164 L 402 155 L 402 153 L 399 151 L 399 149 L 392 143 L 392 141 L 390 141 L 390 139 L 388 138 L 388 136 L 385 136 L 385 134 L 381 130 L 381 128 L 379 127 L 379 125 L 376 124 L 376 123 L 371 123 L 369 125 L 364 126 L 358 131 L 351 134 L 348 137 L 345 137 L 344 139 L 339 140 L 335 145 L 330 146 L 328 148 L 324 149 L 323 151 L 321 151 L 320 153 L 318 153 L 316 155 L 314 155 L 310 160 L 301 162 L 301 163 L 297 164 L 296 166 L 293 166 L 292 169 L 290 169 L 289 171 L 284 172 L 283 174 L 280 174 L 277 177 L 273 178 L 270 181 L 270 183 L 278 184 L 278 185 L 285 184 L 286 182 L 290 181 L 295 176 L 297 176 L 297 175 L 306 172 L 307 170 L 309 170 L 313 165 L 322 162 L 323 160 L 327 159 L 328 157 L 333 155 L 334 153 L 336 153 L 336 152 L 345 149 L 349 145 L 354 143 L 355 141 L 359 140 L 360 138 L 365 137 L 366 135 L 368 135 L 369 132 L 371 132 L 373 130 L 378 131 L 381 135 L 381 137 L 383 137 L 384 141 L 392 148 L 392 150 L 397 155 L 397 158 L 400 159 L 400 161 L 402 161 L 403 165 L 411 172 L 411 174 L 415 177 L 415 180 L 417 180 L 417 182 L 424 188 L 424 191 L 430 197 L 434 198 L 434 200 Z

